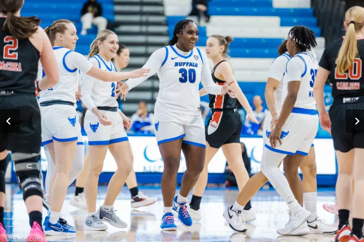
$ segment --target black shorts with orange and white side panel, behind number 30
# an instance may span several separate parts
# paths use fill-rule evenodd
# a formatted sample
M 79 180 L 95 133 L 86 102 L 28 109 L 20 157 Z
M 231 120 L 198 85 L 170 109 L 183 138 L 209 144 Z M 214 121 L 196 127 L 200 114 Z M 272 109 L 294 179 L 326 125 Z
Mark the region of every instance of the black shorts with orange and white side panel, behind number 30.
M 205 126 L 206 141 L 217 149 L 224 144 L 240 143 L 242 127 L 243 123 L 236 109 L 213 111 Z

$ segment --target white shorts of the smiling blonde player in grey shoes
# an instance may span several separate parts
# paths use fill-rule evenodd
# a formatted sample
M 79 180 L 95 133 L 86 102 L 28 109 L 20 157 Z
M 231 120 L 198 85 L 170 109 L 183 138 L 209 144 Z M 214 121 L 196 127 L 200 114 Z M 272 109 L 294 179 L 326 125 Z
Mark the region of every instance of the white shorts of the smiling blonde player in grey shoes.
M 100 112 L 111 121 L 111 125 L 102 125 L 96 115 L 87 110 L 84 128 L 87 133 L 88 145 L 108 145 L 128 141 L 129 139 L 120 114 L 104 110 L 100 110 Z

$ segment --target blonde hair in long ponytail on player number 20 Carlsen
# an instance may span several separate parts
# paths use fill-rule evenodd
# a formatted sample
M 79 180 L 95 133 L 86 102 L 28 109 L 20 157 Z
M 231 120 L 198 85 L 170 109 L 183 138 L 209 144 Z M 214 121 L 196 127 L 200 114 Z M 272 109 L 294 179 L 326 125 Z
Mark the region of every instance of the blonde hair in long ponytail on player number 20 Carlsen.
M 337 59 L 339 74 L 345 73 L 352 67 L 354 59 L 358 57 L 358 42 L 356 32 L 362 31 L 364 26 L 364 8 L 354 6 L 345 14 L 347 32 L 340 48 Z

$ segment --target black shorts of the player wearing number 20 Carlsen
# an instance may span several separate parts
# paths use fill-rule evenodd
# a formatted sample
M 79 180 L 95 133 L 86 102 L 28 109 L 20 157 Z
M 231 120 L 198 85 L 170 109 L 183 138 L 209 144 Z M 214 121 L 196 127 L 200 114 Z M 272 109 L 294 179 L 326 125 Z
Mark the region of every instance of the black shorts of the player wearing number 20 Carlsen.
M 364 132 L 347 132 L 347 110 L 364 110 L 364 102 L 333 104 L 330 107 L 334 148 L 341 152 L 349 152 L 353 148 L 364 148 Z

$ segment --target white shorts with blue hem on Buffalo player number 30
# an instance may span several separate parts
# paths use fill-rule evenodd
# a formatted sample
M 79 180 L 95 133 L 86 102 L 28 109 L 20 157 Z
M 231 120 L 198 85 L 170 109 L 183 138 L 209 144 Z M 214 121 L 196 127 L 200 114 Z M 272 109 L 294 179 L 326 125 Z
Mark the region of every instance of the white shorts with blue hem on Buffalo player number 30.
M 183 143 L 206 148 L 205 126 L 201 115 L 184 115 L 154 109 L 158 145 L 183 138 Z

